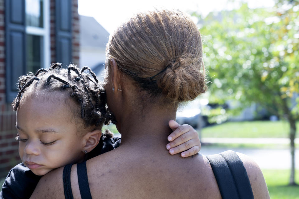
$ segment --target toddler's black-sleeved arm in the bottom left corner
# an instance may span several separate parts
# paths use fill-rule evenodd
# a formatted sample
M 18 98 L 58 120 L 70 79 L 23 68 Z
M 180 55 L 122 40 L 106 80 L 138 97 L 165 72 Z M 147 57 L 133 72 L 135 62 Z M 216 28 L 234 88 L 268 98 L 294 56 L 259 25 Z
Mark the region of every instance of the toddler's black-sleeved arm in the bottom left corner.
M 9 171 L 2 185 L 0 198 L 30 198 L 40 178 L 23 163 L 18 164 Z

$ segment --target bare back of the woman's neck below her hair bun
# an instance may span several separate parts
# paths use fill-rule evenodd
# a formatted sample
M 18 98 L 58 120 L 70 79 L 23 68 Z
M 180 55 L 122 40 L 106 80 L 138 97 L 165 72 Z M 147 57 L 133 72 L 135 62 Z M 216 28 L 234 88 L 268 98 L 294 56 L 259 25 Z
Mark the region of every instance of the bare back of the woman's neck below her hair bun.
M 138 147 L 164 147 L 172 132 L 169 120 L 175 120 L 176 107 L 149 107 L 126 114 L 120 122 L 121 145 Z

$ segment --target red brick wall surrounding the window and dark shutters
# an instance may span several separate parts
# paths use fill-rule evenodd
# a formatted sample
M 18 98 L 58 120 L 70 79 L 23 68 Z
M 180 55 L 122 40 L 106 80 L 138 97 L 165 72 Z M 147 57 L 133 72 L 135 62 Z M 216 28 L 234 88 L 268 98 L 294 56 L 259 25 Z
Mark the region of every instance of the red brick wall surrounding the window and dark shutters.
M 79 63 L 79 17 L 78 0 L 72 0 L 73 13 L 73 60 Z M 5 99 L 5 24 L 4 0 L 0 0 L 0 179 L 4 178 L 9 169 L 21 160 L 18 154 L 18 142 L 15 141 L 17 131 L 16 112 Z M 55 0 L 50 0 L 50 49 L 51 63 L 55 63 Z M 17 80 L 16 80 L 17 81 Z

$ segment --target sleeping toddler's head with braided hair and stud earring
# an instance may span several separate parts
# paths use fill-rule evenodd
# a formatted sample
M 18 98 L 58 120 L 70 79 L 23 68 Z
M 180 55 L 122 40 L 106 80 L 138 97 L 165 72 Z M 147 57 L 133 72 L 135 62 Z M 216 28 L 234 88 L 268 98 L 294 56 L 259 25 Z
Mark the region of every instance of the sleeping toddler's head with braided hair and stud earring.
M 102 85 L 88 67 L 80 72 L 53 64 L 21 76 L 19 90 L 12 103 L 19 155 L 34 174 L 80 162 L 97 146 L 110 114 Z

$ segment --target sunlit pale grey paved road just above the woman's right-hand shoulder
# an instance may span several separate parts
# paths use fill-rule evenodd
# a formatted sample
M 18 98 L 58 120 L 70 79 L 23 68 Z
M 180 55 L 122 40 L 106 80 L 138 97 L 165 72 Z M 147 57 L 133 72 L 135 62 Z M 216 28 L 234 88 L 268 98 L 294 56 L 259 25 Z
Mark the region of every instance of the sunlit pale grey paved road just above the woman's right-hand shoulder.
M 225 150 L 225 147 L 202 146 L 200 153 L 203 155 L 218 154 Z M 287 149 L 250 149 L 250 148 L 233 148 L 236 152 L 250 156 L 261 169 L 290 169 L 291 154 Z M 295 151 L 295 167 L 299 169 L 299 149 Z

